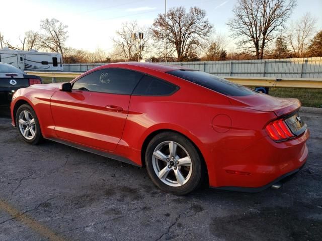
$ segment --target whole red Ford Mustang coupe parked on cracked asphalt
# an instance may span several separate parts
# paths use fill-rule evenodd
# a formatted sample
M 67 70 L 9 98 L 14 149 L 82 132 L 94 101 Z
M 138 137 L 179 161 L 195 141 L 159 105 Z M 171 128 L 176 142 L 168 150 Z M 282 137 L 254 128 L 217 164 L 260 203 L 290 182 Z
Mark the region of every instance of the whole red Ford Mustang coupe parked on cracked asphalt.
M 45 138 L 145 166 L 156 186 L 183 195 L 207 180 L 237 191 L 278 187 L 306 161 L 299 107 L 204 72 L 127 62 L 19 89 L 11 115 L 29 144 Z

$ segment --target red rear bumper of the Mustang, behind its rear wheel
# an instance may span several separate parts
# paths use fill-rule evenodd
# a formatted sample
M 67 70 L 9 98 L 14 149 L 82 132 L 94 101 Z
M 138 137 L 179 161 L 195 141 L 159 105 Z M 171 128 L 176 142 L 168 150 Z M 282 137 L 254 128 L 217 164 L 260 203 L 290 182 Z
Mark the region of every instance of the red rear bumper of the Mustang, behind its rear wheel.
M 211 187 L 259 192 L 297 173 L 306 162 L 308 129 L 298 138 L 275 143 L 269 137 L 243 150 L 221 150 L 208 170 Z

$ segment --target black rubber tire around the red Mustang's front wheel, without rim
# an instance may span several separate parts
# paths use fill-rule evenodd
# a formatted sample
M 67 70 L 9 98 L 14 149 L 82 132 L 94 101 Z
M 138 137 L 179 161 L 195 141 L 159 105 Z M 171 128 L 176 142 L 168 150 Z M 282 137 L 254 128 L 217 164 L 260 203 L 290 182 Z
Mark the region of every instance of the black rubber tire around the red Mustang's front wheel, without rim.
M 20 127 L 19 127 L 19 115 L 20 115 L 21 112 L 23 112 L 25 110 L 27 110 L 31 114 L 31 117 L 35 121 L 35 135 L 30 140 L 28 140 L 27 138 L 24 137 L 24 135 L 21 132 Z M 23 140 L 25 142 L 27 142 L 28 144 L 37 145 L 43 140 L 41 130 L 40 130 L 39 121 L 38 121 L 38 117 L 37 117 L 34 109 L 29 104 L 23 104 L 18 108 L 17 113 L 16 113 L 16 126 L 17 126 L 19 134 L 22 136 Z

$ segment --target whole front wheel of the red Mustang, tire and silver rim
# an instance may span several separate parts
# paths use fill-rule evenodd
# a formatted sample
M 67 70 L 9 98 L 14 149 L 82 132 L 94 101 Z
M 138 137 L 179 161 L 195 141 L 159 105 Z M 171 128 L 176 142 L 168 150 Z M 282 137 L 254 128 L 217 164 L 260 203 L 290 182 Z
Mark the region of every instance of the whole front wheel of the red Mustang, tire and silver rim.
M 29 104 L 23 104 L 18 108 L 16 124 L 25 142 L 36 145 L 42 140 L 37 115 Z

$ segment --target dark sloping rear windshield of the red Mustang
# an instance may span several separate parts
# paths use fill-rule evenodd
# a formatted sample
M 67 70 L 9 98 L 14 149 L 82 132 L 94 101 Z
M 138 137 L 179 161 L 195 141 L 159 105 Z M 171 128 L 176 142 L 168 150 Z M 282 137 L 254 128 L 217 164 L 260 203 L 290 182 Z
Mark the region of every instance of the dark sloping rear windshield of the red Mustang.
M 225 80 L 223 78 L 219 78 L 212 74 L 208 74 L 201 71 L 173 70 L 169 71 L 168 74 L 188 80 L 195 84 L 199 84 L 208 89 L 214 90 L 225 95 L 245 96 L 256 93 L 254 90 L 247 88 L 243 85 L 239 85 L 231 81 Z

